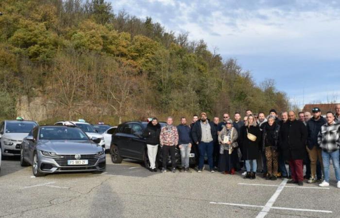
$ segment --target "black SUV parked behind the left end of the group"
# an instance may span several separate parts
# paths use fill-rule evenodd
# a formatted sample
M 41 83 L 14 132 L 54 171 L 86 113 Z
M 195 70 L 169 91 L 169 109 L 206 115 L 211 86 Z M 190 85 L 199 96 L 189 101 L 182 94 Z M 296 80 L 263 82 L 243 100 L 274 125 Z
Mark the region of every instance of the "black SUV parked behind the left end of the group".
M 112 135 L 110 153 L 113 163 L 121 163 L 123 158 L 129 158 L 134 160 L 140 160 L 144 162 L 146 168 L 149 168 L 148 149 L 146 146 L 146 140 L 142 136 L 144 129 L 147 126 L 147 122 L 130 121 L 120 124 L 114 134 Z M 166 123 L 159 122 L 164 127 Z M 156 157 L 156 168 L 162 165 L 163 149 L 159 146 Z M 189 164 L 195 164 L 195 157 L 191 151 L 191 157 L 189 158 Z M 181 154 L 176 147 L 176 166 L 181 166 Z M 170 156 L 168 156 L 168 165 L 171 164 Z

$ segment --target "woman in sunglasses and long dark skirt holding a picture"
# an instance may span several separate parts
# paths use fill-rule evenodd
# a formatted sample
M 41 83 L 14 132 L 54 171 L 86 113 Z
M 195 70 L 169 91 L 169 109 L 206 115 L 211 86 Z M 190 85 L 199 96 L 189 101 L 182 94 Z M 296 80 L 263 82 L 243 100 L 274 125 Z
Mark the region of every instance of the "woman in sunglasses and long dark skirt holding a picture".
M 233 127 L 232 121 L 227 120 L 219 134 L 220 158 L 219 171 L 223 174 L 235 174 L 235 167 L 238 161 L 238 131 Z

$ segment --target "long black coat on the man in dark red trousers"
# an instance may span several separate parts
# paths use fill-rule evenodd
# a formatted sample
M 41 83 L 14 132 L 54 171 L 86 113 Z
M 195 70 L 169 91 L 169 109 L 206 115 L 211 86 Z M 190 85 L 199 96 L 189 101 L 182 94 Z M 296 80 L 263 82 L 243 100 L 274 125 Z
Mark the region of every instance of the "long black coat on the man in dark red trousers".
M 279 132 L 279 147 L 285 160 L 306 157 L 307 128 L 301 121 L 287 121 Z

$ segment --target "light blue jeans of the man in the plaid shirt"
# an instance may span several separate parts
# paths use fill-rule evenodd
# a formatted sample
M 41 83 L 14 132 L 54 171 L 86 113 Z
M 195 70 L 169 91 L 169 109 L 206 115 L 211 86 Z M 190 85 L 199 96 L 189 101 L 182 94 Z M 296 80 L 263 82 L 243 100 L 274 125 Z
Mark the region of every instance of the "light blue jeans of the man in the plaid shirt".
M 339 150 L 330 153 L 322 151 L 321 155 L 323 156 L 324 180 L 329 183 L 329 161 L 332 158 L 335 177 L 337 181 L 340 181 Z

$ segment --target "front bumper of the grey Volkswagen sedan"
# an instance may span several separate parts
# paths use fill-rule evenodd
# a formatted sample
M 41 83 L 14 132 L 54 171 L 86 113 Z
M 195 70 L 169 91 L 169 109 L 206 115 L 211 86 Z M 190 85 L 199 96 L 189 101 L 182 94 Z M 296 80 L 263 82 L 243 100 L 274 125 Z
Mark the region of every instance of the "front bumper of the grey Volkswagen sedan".
M 39 152 L 40 153 L 40 152 Z M 95 163 L 87 165 L 65 165 L 60 164 L 54 158 L 38 154 L 38 167 L 39 171 L 43 173 L 53 172 L 84 172 L 84 171 L 104 171 L 106 167 L 105 155 L 99 156 Z

